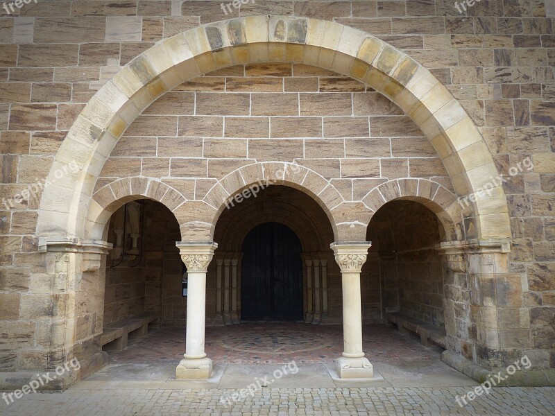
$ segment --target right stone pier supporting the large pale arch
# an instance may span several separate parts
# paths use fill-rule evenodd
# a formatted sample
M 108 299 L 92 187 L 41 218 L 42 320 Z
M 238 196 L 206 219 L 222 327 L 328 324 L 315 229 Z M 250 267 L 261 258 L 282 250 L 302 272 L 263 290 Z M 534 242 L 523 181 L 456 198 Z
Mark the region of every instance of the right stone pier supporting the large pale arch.
M 529 319 L 521 312 L 522 279 L 508 270 L 509 241 L 447 241 L 436 250 L 450 268 L 444 290 L 447 349 L 490 370 L 506 367 L 516 348 L 531 347 Z

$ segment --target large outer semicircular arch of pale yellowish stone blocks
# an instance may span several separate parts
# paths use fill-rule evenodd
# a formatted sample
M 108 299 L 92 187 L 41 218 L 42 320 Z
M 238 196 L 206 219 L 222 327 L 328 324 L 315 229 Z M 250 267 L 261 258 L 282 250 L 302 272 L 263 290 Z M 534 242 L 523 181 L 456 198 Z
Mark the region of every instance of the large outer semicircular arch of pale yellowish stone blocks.
M 381 92 L 427 135 L 458 196 L 479 191 L 498 174 L 484 139 L 459 102 L 425 67 L 393 46 L 331 21 L 241 17 L 198 26 L 159 42 L 91 98 L 60 146 L 49 179 L 70 162 L 80 171 L 46 187 L 37 235 L 85 238 L 85 217 L 96 179 L 128 125 L 156 98 L 180 83 L 250 62 L 302 62 L 350 76 Z M 466 237 L 511 236 L 503 188 L 477 193 L 476 197 L 467 219 Z M 100 214 L 92 212 L 93 216 Z M 345 225 L 347 236 L 353 228 L 349 223 L 347 220 Z M 184 239 L 185 235 L 188 238 L 187 230 L 182 229 Z M 191 237 L 196 235 L 195 230 Z

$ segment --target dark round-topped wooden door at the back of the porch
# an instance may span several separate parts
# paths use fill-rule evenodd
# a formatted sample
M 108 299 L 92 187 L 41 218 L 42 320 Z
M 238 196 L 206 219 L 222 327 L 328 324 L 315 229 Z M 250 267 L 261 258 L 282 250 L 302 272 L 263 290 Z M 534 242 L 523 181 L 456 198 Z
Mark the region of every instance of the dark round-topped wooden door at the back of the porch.
M 302 259 L 296 234 L 265 223 L 243 243 L 241 320 L 302 320 Z

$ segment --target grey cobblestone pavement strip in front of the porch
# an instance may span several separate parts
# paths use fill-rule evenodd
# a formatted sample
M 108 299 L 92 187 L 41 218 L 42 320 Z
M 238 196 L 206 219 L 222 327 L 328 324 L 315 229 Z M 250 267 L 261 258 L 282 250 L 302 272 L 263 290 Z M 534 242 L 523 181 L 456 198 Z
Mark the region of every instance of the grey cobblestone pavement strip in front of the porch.
M 468 388 L 264 389 L 227 408 L 235 390 L 78 390 L 31 394 L 0 414 L 31 415 L 555 415 L 555 388 L 497 388 L 460 408 Z

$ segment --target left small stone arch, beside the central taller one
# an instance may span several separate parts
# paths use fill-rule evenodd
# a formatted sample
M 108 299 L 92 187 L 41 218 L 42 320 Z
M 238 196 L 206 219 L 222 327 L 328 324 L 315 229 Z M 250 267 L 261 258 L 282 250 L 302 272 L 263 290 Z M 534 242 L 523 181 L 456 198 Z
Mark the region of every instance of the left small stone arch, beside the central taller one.
M 160 202 L 174 215 L 174 211 L 187 201 L 180 191 L 160 180 L 139 176 L 114 180 L 92 196 L 86 218 L 87 232 L 91 238 L 103 239 L 110 216 L 127 202 L 137 199 Z

